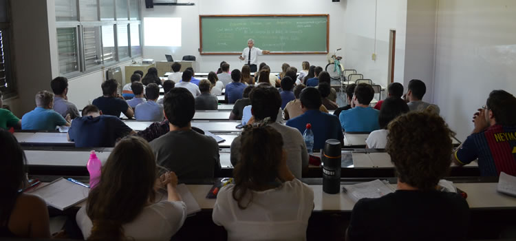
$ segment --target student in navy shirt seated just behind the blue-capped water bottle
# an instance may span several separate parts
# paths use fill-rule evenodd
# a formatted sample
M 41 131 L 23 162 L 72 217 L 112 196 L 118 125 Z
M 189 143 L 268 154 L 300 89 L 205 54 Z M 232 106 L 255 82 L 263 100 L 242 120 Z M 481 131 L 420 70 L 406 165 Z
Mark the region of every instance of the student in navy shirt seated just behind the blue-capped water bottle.
M 321 112 L 321 94 L 314 87 L 305 87 L 301 92 L 301 110 L 303 114 L 287 121 L 287 125 L 305 133 L 306 124 L 312 124 L 314 133 L 314 149 L 323 149 L 327 139 L 337 139 L 344 145 L 344 134 L 338 118 L 332 114 Z

